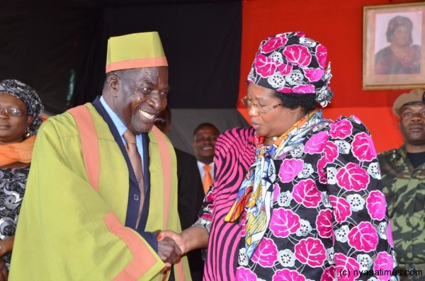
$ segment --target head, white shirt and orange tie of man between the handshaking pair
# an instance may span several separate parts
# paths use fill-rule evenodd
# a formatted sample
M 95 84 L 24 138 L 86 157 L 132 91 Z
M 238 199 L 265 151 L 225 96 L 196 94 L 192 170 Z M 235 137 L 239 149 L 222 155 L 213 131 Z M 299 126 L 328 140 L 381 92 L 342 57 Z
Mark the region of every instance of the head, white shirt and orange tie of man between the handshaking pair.
M 204 194 L 214 180 L 215 142 L 219 134 L 219 130 L 210 123 L 202 123 L 193 131 L 193 151 L 198 160 Z

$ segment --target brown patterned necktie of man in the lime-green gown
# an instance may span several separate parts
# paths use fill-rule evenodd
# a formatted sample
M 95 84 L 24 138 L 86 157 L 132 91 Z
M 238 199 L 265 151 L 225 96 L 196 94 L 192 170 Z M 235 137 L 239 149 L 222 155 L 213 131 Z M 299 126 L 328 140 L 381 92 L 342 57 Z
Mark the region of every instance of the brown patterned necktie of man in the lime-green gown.
M 140 208 L 137 216 L 136 228 L 139 225 L 140 217 L 142 215 L 143 202 L 145 201 L 145 187 L 143 185 L 143 171 L 142 171 L 142 158 L 137 150 L 136 136 L 130 130 L 124 132 L 125 150 L 127 150 L 128 158 L 130 159 L 131 166 L 137 178 L 140 188 Z

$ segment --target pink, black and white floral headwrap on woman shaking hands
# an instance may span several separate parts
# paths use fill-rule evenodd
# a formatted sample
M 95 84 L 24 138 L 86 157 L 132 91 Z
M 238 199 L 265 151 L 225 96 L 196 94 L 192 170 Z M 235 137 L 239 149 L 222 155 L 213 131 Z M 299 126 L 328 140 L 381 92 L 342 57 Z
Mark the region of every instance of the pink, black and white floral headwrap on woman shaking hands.
M 325 107 L 334 95 L 330 62 L 324 69 L 326 58 L 327 48 L 304 33 L 281 33 L 261 42 L 248 81 L 283 94 L 314 94 Z

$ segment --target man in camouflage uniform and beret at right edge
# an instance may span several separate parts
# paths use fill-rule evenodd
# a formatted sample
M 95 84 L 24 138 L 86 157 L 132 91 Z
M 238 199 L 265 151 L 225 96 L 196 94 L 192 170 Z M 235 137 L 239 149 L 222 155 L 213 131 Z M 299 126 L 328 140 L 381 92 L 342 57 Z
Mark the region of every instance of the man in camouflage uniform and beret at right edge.
M 392 107 L 404 143 L 378 156 L 401 280 L 425 280 L 425 91 L 399 96 Z M 415 271 L 416 270 L 416 271 Z

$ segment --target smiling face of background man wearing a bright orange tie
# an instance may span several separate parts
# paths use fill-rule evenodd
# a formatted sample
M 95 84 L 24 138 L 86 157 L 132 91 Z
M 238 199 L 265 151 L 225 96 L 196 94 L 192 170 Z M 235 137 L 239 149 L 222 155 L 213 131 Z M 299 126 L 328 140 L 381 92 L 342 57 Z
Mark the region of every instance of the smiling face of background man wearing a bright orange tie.
M 215 127 L 201 127 L 193 136 L 193 150 L 198 161 L 210 164 L 214 159 L 215 141 L 219 132 Z

